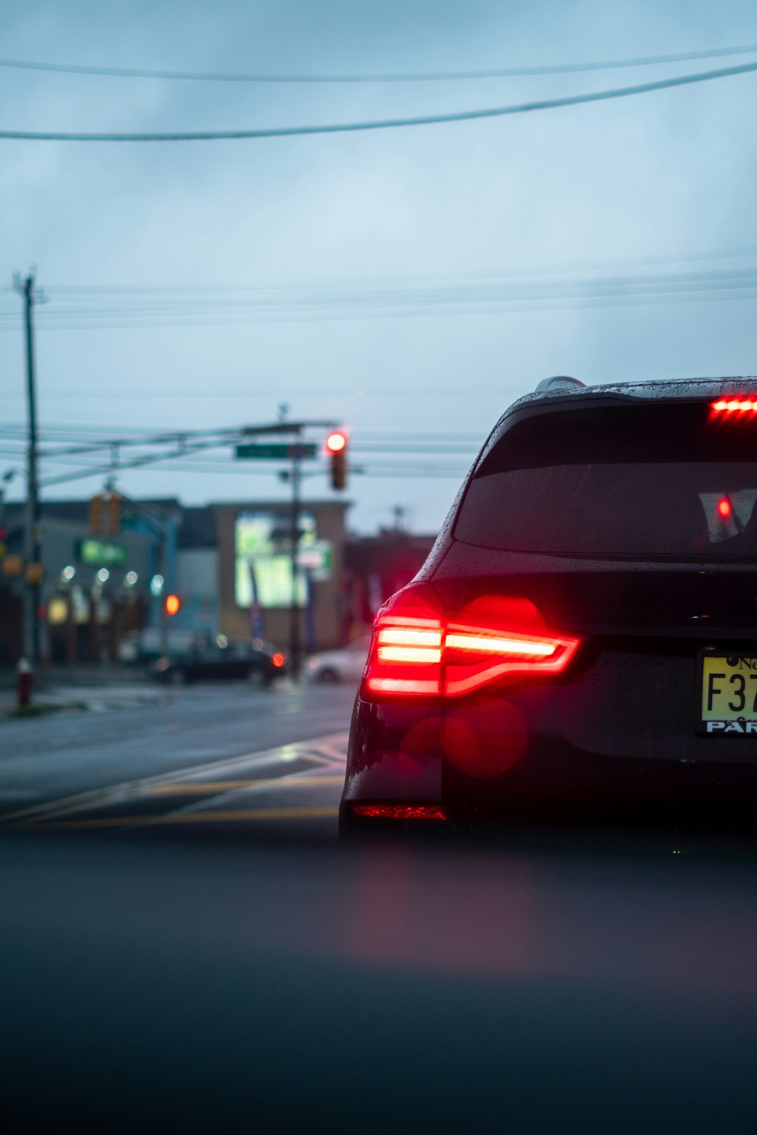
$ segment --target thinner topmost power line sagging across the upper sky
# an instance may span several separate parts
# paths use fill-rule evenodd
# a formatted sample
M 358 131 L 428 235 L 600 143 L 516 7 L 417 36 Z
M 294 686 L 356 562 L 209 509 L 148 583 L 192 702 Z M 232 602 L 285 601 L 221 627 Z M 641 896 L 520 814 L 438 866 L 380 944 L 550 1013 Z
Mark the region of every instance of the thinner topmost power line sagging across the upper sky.
M 439 72 L 368 72 L 364 74 L 276 74 L 270 72 L 192 72 L 150 67 L 102 67 L 86 64 L 41 62 L 30 59 L 0 59 L 0 67 L 16 70 L 54 72 L 62 75 L 93 75 L 113 78 L 179 79 L 201 83 L 437 83 L 460 79 L 514 78 L 527 75 L 566 75 L 580 72 L 619 70 L 626 67 L 649 67 L 657 64 L 688 62 L 693 59 L 718 59 L 724 56 L 751 54 L 757 43 L 732 48 L 707 48 L 704 51 L 679 51 L 664 56 L 638 56 L 632 59 L 604 59 L 578 64 L 539 64 L 533 67 L 494 67 L 473 70 Z

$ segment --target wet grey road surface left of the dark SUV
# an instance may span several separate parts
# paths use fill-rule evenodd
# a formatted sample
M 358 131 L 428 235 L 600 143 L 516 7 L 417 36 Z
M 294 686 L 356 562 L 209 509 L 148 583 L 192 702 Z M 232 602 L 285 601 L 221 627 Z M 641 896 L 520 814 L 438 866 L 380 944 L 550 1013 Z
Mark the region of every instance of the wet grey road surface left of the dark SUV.
M 0 722 L 0 818 L 35 829 L 262 824 L 336 835 L 354 691 L 246 683 L 101 691 Z

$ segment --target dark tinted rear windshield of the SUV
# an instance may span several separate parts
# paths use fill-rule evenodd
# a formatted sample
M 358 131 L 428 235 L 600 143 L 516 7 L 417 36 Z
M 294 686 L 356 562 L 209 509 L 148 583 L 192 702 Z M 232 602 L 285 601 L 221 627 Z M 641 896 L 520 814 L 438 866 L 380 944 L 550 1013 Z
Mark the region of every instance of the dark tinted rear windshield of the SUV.
M 565 555 L 757 554 L 757 418 L 706 403 L 586 407 L 513 424 L 471 481 L 455 536 Z

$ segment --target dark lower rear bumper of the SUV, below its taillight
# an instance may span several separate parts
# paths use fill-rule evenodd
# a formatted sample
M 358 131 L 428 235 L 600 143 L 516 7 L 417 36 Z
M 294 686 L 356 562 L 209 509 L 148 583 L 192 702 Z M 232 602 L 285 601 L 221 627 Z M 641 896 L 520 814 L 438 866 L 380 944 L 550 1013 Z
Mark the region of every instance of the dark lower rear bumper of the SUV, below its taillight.
M 513 695 L 452 714 L 358 698 L 343 819 L 355 805 L 376 802 L 440 804 L 462 822 L 581 814 L 675 821 L 716 813 L 757 819 L 755 740 L 703 738 L 692 729 L 685 743 L 667 749 L 647 743 L 638 754 L 619 754 L 614 743 L 589 750 L 554 735 L 544 700 L 535 713 L 535 695 L 544 699 L 544 691 L 521 693 L 520 707 Z

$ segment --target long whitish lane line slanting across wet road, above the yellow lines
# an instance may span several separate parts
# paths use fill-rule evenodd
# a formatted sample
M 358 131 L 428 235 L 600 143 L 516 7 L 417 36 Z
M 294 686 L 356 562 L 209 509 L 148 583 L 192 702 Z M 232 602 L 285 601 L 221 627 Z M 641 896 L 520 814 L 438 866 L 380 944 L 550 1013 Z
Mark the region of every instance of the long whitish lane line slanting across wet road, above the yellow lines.
M 138 777 L 133 781 L 121 781 L 116 784 L 109 784 L 104 788 L 91 789 L 87 792 L 77 792 L 73 796 L 59 797 L 57 800 L 48 800 L 43 804 L 32 805 L 27 808 L 20 808 L 17 812 L 7 813 L 5 816 L 0 817 L 0 825 L 11 826 L 16 824 L 25 824 L 27 821 L 34 822 L 35 817 L 49 816 L 53 818 L 54 816 L 66 815 L 70 812 L 76 812 L 79 807 L 87 807 L 91 805 L 103 804 L 112 801 L 113 798 L 118 799 L 133 794 L 141 788 L 151 784 L 169 784 L 179 781 L 191 781 L 201 777 L 205 773 L 218 774 L 222 770 L 234 770 L 243 766 L 264 764 L 271 760 L 296 760 L 297 758 L 310 759 L 321 764 L 334 764 L 333 760 L 327 760 L 318 755 L 318 750 L 321 748 L 330 749 L 337 753 L 339 749 L 346 755 L 347 751 L 347 739 L 350 734 L 348 731 L 343 730 L 338 733 L 326 733 L 322 737 L 306 738 L 302 741 L 292 741 L 287 745 L 278 745 L 270 749 L 259 749 L 255 753 L 245 753 L 239 757 L 222 757 L 219 760 L 210 760 L 204 765 L 194 765 L 190 767 L 174 770 L 170 773 L 158 773 L 154 776 Z M 316 750 L 316 751 L 309 751 Z M 342 757 L 344 760 L 345 757 Z M 286 775 L 286 774 L 284 774 Z M 279 777 L 272 777 L 275 780 Z

